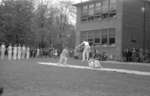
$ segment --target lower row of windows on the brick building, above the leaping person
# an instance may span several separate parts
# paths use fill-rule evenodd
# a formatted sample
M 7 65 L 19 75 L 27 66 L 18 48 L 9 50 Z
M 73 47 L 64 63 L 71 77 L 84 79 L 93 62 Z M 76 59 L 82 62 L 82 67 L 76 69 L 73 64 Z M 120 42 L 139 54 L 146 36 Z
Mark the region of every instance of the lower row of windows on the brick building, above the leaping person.
M 114 45 L 116 41 L 115 28 L 83 31 L 80 33 L 81 41 L 88 41 L 90 44 Z

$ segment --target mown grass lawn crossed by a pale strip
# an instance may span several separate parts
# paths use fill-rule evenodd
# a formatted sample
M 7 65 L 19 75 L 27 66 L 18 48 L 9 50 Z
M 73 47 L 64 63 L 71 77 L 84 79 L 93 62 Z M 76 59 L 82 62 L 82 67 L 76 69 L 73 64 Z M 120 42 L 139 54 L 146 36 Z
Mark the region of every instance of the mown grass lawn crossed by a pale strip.
M 2 96 L 149 96 L 150 76 L 117 72 L 60 68 L 37 64 L 38 61 L 56 62 L 55 59 L 0 61 Z M 69 60 L 69 64 L 86 66 L 86 62 Z M 128 67 L 105 64 L 104 67 L 148 71 L 145 66 Z M 125 66 L 125 67 L 124 67 Z M 150 71 L 150 70 L 149 70 Z

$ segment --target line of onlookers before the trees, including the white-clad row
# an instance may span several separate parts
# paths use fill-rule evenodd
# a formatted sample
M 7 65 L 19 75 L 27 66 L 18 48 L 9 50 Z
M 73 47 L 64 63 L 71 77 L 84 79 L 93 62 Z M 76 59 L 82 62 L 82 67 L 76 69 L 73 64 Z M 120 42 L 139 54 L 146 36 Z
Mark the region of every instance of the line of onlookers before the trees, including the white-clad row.
M 24 44 L 0 44 L 0 57 L 9 60 L 29 59 L 38 57 L 59 57 L 62 49 L 57 48 L 35 48 L 25 46 Z M 69 55 L 73 56 L 73 50 L 69 49 Z

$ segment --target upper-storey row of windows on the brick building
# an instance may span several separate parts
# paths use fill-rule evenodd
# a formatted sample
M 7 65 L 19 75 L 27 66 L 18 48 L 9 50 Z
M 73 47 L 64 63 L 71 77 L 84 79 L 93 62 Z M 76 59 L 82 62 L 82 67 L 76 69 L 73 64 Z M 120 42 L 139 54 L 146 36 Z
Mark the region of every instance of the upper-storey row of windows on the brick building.
M 103 0 L 83 5 L 81 21 L 90 21 L 116 16 L 116 0 Z

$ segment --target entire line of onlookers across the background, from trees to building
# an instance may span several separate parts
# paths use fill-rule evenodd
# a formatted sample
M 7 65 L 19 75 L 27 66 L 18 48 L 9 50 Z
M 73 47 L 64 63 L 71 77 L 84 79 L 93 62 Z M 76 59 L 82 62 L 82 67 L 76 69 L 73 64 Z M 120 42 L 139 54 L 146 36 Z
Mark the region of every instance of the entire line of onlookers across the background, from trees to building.
M 59 57 L 61 54 L 61 49 L 57 48 L 34 48 L 21 44 L 5 45 L 2 43 L 0 45 L 0 56 L 1 59 L 7 57 L 11 59 L 29 59 L 35 57 Z M 83 48 L 78 50 L 69 49 L 69 57 L 74 57 L 76 59 L 81 59 L 81 53 Z M 122 52 L 123 61 L 125 62 L 150 62 L 150 50 L 143 49 L 124 49 Z M 106 52 L 98 54 L 94 46 L 91 46 L 90 58 L 95 58 L 98 60 L 107 60 L 109 56 Z

